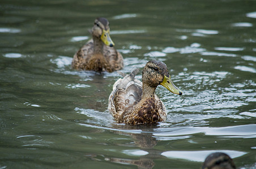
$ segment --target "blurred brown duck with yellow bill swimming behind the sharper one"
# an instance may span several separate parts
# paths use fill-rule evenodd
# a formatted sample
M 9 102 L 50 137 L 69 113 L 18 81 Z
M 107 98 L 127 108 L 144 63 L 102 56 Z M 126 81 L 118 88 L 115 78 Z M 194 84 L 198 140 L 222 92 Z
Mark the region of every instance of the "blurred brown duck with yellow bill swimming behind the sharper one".
M 113 72 L 122 69 L 123 57 L 113 47 L 108 20 L 104 17 L 97 18 L 90 33 L 92 39 L 76 52 L 72 60 L 72 68 L 95 72 Z

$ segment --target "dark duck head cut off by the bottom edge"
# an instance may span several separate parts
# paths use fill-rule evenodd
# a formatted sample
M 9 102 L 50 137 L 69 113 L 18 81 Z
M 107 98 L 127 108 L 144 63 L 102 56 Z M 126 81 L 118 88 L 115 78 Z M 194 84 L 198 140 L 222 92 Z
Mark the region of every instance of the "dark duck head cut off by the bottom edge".
M 225 153 L 211 153 L 208 155 L 203 163 L 203 169 L 236 169 L 234 162 L 228 154 Z

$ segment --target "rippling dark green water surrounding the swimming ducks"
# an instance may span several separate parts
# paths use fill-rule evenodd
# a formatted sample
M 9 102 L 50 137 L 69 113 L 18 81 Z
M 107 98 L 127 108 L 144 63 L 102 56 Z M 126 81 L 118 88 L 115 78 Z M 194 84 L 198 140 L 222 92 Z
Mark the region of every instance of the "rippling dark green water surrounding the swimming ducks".
M 199 168 L 220 151 L 256 166 L 255 1 L 1 1 L 0 168 Z M 118 73 L 76 72 L 96 17 L 129 73 L 164 61 L 157 126 L 117 124 Z M 141 78 L 141 72 L 137 75 Z

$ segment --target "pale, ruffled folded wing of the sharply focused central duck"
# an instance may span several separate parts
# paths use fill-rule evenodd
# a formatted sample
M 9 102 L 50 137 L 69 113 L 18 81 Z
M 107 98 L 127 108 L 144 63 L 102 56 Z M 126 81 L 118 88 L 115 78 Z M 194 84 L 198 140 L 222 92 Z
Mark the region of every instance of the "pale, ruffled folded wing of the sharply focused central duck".
M 134 78 L 138 72 L 139 69 L 134 69 L 130 74 L 120 73 L 123 78 L 113 85 L 108 110 L 117 121 L 121 121 L 123 112 L 129 112 L 141 100 L 142 82 Z

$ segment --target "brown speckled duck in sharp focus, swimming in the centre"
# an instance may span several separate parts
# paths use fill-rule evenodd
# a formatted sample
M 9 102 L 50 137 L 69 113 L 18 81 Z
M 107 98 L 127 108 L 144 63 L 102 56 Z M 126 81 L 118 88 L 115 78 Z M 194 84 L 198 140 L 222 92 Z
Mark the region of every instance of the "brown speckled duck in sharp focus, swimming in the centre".
M 156 87 L 161 84 L 173 94 L 182 95 L 171 81 L 167 66 L 161 61 L 148 61 L 142 71 L 142 82 L 134 78 L 136 73 L 138 69 L 129 75 L 120 73 L 123 78 L 114 83 L 109 96 L 109 112 L 118 123 L 152 124 L 165 121 L 165 106 L 155 94 Z

